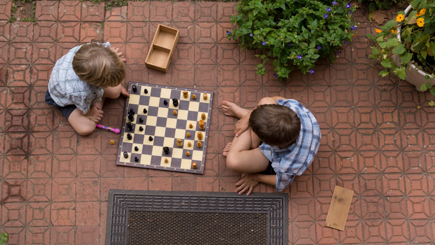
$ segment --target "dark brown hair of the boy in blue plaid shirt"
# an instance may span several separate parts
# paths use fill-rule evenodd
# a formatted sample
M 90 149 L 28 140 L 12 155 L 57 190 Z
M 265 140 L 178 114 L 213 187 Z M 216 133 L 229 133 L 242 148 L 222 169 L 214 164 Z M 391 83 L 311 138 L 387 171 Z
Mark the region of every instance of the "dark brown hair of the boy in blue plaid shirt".
M 296 142 L 300 132 L 298 114 L 277 104 L 257 106 L 251 113 L 249 125 L 261 141 L 277 147 L 289 147 Z

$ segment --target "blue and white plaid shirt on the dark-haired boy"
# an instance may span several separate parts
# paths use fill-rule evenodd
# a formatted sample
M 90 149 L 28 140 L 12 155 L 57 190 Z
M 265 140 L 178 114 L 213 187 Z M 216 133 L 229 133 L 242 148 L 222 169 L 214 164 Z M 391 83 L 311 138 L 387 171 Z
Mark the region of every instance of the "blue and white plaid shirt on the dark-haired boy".
M 260 145 L 261 153 L 272 162 L 276 172 L 276 190 L 280 192 L 313 162 L 319 150 L 321 132 L 316 118 L 298 101 L 278 99 L 276 103 L 289 107 L 300 119 L 300 133 L 296 144 L 284 149 L 271 147 L 265 143 Z

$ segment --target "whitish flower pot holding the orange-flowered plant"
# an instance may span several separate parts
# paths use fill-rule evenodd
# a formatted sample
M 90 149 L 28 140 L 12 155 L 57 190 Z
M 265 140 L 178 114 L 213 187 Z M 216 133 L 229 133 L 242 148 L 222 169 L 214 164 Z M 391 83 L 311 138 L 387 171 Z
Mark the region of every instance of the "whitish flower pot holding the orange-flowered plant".
M 412 6 L 409 5 L 406 10 L 405 10 L 405 17 L 407 17 L 409 15 L 409 13 L 411 12 Z M 402 39 L 400 38 L 400 30 L 401 30 L 401 26 L 399 25 L 399 27 L 397 28 L 397 38 L 399 39 L 399 42 L 402 41 Z M 393 61 L 394 63 L 398 64 L 398 56 L 395 55 L 395 57 L 393 57 Z M 415 88 L 417 88 L 418 91 L 420 91 L 420 85 L 425 84 L 426 75 L 430 75 L 428 73 L 425 73 L 423 71 L 421 71 L 420 69 L 418 69 L 418 67 L 416 67 L 414 64 L 412 63 L 408 63 L 408 66 L 406 68 L 406 75 L 405 75 L 405 81 L 411 83 L 412 85 L 415 86 Z M 431 77 L 429 79 L 429 83 L 431 85 L 435 85 L 435 77 Z

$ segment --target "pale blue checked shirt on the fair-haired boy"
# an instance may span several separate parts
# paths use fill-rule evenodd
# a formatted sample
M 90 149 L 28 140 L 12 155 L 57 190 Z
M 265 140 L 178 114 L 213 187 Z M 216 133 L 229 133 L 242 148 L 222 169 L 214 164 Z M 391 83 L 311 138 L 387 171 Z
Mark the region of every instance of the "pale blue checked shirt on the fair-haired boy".
M 102 45 L 110 48 L 109 42 Z M 103 88 L 81 80 L 72 70 L 72 59 L 80 47 L 82 46 L 72 48 L 56 61 L 48 81 L 48 92 L 59 106 L 73 104 L 86 114 L 91 103 L 100 102 L 103 98 Z

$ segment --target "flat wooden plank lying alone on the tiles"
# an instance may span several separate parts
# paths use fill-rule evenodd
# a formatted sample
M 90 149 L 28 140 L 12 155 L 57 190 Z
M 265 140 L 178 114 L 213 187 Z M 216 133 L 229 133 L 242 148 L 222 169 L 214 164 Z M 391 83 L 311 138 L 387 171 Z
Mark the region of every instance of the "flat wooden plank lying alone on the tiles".
M 326 216 L 325 226 L 344 230 L 347 215 L 349 214 L 350 203 L 352 202 L 353 191 L 340 186 L 335 186 Z

